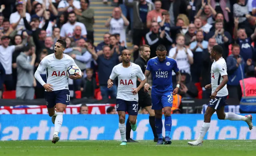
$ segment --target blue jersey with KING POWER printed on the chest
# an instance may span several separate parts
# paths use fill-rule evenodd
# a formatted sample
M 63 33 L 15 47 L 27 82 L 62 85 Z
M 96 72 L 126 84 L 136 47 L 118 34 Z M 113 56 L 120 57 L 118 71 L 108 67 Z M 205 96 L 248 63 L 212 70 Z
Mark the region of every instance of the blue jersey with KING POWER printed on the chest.
M 178 72 L 176 60 L 166 57 L 164 61 L 160 61 L 158 57 L 148 60 L 146 70 L 152 74 L 152 92 L 151 94 L 163 94 L 164 92 L 172 92 L 172 70 Z

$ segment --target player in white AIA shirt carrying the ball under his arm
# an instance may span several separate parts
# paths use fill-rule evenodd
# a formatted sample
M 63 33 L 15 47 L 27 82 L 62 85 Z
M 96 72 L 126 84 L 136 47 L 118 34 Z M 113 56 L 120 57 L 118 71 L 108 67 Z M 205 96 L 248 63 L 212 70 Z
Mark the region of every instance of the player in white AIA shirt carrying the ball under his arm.
M 63 51 L 66 48 L 66 41 L 58 40 L 54 45 L 54 54 L 50 54 L 42 59 L 36 72 L 35 78 L 45 88 L 45 100 L 48 114 L 52 117 L 54 133 L 52 143 L 60 139 L 58 133 L 63 121 L 63 111 L 69 105 L 70 94 L 68 90 L 67 69 L 69 66 L 77 66 L 74 59 Z M 40 74 L 46 69 L 47 82 L 45 83 Z M 78 68 L 79 69 L 79 68 Z M 81 78 L 81 70 L 75 76 L 69 76 L 72 80 Z M 56 105 L 56 111 L 55 111 Z

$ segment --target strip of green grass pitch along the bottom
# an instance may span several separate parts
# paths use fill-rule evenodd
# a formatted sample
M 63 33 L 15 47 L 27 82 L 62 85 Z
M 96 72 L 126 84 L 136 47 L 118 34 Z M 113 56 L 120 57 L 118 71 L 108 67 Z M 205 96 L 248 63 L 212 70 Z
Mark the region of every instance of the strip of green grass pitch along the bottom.
M 128 142 L 127 146 L 119 146 L 120 143 L 0 141 L 0 156 L 253 156 L 256 151 L 256 140 L 204 140 L 203 146 L 190 146 L 185 140 L 158 146 L 153 141 Z

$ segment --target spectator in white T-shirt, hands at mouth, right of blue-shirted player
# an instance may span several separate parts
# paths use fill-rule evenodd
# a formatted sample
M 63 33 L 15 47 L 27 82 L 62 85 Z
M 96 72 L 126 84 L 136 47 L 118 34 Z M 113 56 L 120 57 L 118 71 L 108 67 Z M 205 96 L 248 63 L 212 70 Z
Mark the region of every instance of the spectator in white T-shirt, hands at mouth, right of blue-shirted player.
M 184 70 L 188 75 L 187 80 L 190 81 L 190 64 L 194 63 L 193 53 L 185 47 L 185 37 L 178 34 L 176 37 L 176 47 L 170 49 L 169 57 L 176 60 L 180 70 Z M 172 83 L 176 84 L 176 74 L 172 71 Z

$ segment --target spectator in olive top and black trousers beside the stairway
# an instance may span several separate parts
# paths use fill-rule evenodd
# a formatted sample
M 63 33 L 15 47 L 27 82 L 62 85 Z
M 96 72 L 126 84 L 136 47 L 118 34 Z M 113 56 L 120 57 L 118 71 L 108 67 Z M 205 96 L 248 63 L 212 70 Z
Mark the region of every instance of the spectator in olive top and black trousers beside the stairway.
M 86 27 L 87 31 L 87 39 L 94 43 L 94 9 L 89 8 L 90 2 L 89 0 L 80 0 L 81 12 L 79 10 L 75 10 L 75 13 L 78 15 L 77 19 L 81 23 L 83 23 Z

